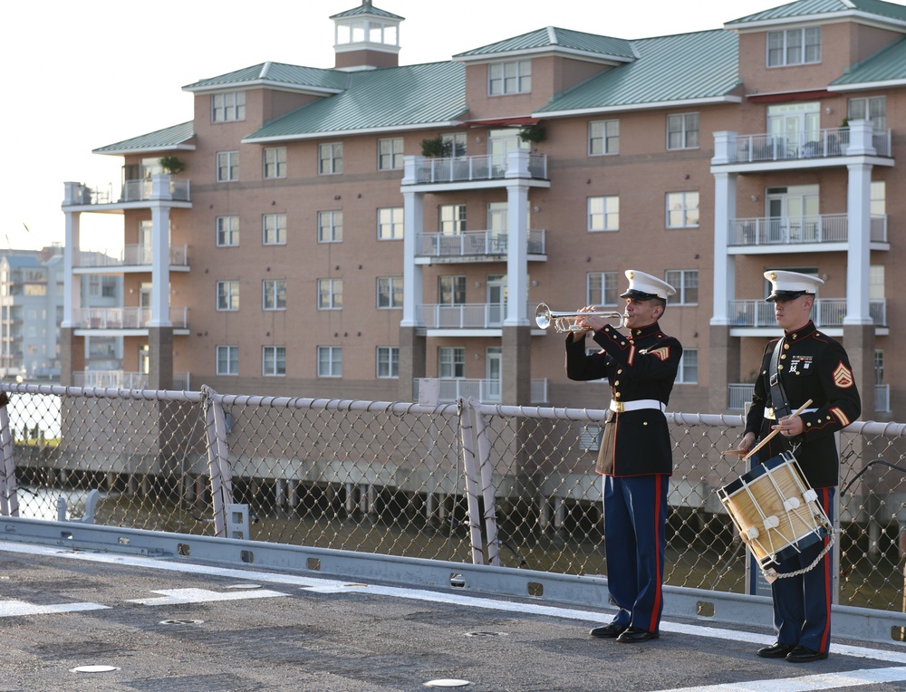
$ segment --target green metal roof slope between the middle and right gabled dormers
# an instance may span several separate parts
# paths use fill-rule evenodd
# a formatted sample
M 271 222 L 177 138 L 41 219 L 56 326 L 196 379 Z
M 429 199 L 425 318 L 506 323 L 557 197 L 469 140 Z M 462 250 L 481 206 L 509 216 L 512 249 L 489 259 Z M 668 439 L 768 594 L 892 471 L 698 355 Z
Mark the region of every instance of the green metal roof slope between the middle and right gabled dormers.
M 741 83 L 738 37 L 716 29 L 632 41 L 635 62 L 605 70 L 562 95 L 541 113 L 620 110 L 676 101 L 718 100 Z

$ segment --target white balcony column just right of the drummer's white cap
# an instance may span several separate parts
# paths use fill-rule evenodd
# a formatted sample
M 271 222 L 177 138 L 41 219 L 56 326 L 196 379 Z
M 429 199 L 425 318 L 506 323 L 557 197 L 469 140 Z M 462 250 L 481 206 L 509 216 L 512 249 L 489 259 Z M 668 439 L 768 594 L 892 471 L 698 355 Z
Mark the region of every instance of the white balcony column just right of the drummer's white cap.
M 846 316 L 843 324 L 872 324 L 868 272 L 872 264 L 872 165 L 851 163 L 846 188 Z

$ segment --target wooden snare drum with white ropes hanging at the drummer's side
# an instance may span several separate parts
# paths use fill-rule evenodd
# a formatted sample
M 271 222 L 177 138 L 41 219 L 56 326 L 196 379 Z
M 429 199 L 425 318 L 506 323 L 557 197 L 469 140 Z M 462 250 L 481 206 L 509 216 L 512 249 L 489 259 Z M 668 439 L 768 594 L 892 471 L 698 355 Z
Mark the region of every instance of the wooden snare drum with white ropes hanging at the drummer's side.
M 817 495 L 789 452 L 719 488 L 718 497 L 762 568 L 801 553 L 831 531 Z

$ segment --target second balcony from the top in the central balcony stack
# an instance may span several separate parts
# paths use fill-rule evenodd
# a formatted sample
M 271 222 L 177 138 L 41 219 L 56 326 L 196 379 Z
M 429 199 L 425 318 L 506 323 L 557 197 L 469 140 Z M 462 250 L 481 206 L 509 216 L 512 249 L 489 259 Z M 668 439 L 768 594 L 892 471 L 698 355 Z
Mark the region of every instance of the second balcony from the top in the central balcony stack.
M 506 260 L 509 235 L 499 231 L 467 231 L 465 233 L 421 233 L 416 240 L 419 264 L 455 262 L 501 262 Z M 546 259 L 545 231 L 528 231 L 528 258 Z M 419 260 L 417 259 L 418 263 Z

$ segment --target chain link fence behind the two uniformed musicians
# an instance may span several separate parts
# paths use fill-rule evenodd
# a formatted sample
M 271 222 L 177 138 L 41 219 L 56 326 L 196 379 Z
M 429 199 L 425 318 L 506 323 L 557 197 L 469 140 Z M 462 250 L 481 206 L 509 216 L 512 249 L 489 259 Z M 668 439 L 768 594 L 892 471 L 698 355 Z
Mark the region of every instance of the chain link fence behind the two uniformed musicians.
M 0 514 L 606 575 L 604 411 L 2 385 Z M 2 397 L 0 397 L 2 398 Z M 746 593 L 740 416 L 669 413 L 673 586 Z M 906 610 L 906 426 L 838 434 L 839 602 Z M 93 493 L 91 491 L 100 491 Z M 93 495 L 93 496 L 92 496 Z

